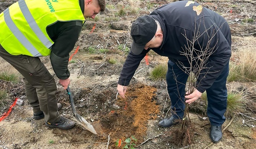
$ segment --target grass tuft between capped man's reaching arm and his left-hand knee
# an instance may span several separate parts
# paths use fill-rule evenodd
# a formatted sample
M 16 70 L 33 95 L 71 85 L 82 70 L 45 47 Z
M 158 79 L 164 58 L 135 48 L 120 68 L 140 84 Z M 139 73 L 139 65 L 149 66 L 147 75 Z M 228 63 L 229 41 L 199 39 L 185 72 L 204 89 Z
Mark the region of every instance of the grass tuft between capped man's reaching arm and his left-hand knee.
M 165 79 L 167 69 L 167 64 L 159 64 L 151 71 L 149 78 L 151 78 L 154 81 Z

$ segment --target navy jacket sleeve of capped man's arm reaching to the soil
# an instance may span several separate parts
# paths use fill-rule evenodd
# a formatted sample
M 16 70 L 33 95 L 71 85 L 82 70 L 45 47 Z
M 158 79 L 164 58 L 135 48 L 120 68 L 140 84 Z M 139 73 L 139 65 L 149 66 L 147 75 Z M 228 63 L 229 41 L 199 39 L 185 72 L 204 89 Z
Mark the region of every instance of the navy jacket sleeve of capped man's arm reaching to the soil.
M 128 86 L 130 84 L 131 78 L 133 78 L 136 69 L 139 67 L 141 60 L 145 57 L 148 51 L 149 50 L 144 50 L 139 55 L 134 55 L 131 51 L 129 52 L 125 63 L 123 64 L 118 84 L 122 86 Z

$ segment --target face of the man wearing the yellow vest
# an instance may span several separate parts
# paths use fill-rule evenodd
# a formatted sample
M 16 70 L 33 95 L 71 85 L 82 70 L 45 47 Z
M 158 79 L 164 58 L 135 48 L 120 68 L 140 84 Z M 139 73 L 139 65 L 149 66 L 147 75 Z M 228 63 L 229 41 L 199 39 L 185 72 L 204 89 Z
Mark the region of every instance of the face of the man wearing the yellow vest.
M 94 19 L 100 12 L 100 6 L 96 0 L 84 0 L 84 18 Z

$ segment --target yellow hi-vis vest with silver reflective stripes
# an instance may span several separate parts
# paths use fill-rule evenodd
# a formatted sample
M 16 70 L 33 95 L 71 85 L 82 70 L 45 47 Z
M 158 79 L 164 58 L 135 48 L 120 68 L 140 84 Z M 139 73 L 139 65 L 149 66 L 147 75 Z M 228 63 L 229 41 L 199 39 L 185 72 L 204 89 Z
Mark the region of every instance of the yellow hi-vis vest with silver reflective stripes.
M 0 44 L 12 55 L 50 55 L 46 27 L 57 21 L 85 21 L 79 0 L 19 0 L 0 14 Z

